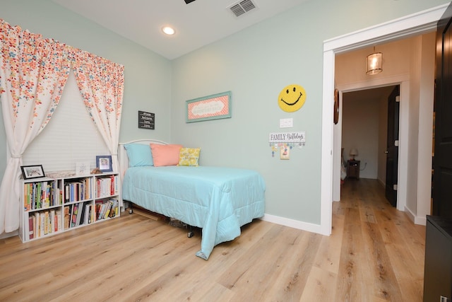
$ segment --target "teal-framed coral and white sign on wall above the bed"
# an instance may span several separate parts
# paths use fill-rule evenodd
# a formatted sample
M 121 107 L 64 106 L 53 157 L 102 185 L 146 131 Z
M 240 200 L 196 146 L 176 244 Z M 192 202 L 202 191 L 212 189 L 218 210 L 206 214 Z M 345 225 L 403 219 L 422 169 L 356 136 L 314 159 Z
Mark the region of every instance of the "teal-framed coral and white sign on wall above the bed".
M 232 117 L 231 91 L 186 101 L 186 122 L 201 122 Z

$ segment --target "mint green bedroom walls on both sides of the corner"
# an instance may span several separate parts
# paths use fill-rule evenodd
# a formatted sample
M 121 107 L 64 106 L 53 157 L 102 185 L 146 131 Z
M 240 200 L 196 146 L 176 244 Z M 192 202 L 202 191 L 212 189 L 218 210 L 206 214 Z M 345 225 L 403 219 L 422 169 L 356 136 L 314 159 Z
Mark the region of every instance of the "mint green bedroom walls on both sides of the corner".
M 0 18 L 124 64 L 121 141 L 153 137 L 200 146 L 203 165 L 256 169 L 266 180 L 266 213 L 320 223 L 323 40 L 446 2 L 310 0 L 172 62 L 50 0 L 2 0 Z M 277 98 L 291 83 L 305 88 L 307 101 L 287 113 Z M 186 100 L 223 91 L 232 91 L 232 118 L 185 123 Z M 155 130 L 137 129 L 138 110 L 155 112 Z M 294 127 L 280 129 L 287 117 Z M 289 161 L 272 158 L 268 134 L 292 130 L 305 131 L 307 145 L 292 150 Z M 0 148 L 0 175 L 5 165 Z

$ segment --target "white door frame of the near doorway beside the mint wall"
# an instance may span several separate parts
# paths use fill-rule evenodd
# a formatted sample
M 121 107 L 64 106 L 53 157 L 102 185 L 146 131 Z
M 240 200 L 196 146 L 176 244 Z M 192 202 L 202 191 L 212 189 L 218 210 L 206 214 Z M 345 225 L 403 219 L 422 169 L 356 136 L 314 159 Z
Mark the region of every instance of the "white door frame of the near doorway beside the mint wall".
M 376 43 L 398 40 L 410 35 L 420 35 L 436 30 L 436 23 L 443 16 L 448 4 L 429 8 L 409 16 L 398 18 L 380 25 L 364 28 L 354 33 L 334 37 L 323 41 L 323 98 L 322 98 L 322 149 L 321 149 L 321 226 L 320 233 L 331 234 L 333 185 L 340 181 L 335 173 L 340 163 L 340 148 L 333 148 L 333 95 L 334 95 L 334 64 L 335 54 L 369 47 Z M 406 86 L 406 85 L 405 85 Z M 406 89 L 406 88 L 405 88 Z M 400 98 L 402 98 L 403 83 L 400 83 Z M 405 102 L 406 103 L 406 102 Z M 401 106 L 402 104 L 400 104 Z M 400 108 L 401 110 L 401 108 Z M 401 118 L 401 117 L 400 117 Z M 408 130 L 408 129 L 407 129 Z M 402 129 L 400 129 L 402 131 Z M 401 133 L 400 133 L 401 134 Z M 399 158 L 403 158 L 399 148 Z M 405 156 L 406 157 L 406 156 Z M 400 161 L 399 161 L 399 164 Z M 401 167 L 399 166 L 399 170 Z M 339 174 L 340 175 L 340 174 Z M 402 176 L 402 175 L 399 175 Z M 401 180 L 399 178 L 399 180 Z M 400 182 L 399 182 L 400 183 Z M 400 184 L 401 185 L 401 184 Z M 405 185 L 406 187 L 406 185 Z M 400 197 L 401 192 L 398 192 Z M 405 193 L 406 194 L 406 193 Z

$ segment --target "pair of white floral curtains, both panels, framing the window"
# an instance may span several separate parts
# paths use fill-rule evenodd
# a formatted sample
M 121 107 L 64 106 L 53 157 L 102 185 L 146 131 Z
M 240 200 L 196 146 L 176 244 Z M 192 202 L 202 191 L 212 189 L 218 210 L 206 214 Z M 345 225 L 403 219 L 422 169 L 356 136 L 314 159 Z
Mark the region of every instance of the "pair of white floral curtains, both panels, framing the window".
M 88 113 L 118 170 L 124 66 L 1 19 L 0 53 L 0 102 L 11 153 L 0 185 L 0 233 L 4 233 L 19 227 L 22 154 L 57 108 L 71 65 Z

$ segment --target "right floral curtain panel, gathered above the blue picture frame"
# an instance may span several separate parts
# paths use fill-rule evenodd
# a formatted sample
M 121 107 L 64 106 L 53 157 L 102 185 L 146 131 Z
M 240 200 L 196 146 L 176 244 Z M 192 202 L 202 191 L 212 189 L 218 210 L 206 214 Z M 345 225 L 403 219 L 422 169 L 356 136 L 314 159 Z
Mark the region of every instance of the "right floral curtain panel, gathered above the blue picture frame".
M 119 127 L 124 90 L 124 66 L 83 50 L 74 52 L 74 73 L 86 109 L 112 154 L 118 171 Z

